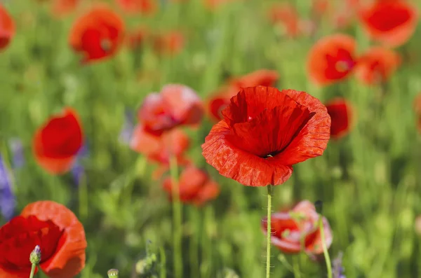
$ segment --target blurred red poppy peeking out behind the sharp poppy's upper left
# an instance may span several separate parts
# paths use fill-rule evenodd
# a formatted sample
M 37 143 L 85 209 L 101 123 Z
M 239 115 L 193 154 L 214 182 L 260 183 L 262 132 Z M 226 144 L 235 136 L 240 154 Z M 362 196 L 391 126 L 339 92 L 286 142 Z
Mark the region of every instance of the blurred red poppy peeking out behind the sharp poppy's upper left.
M 274 87 L 279 80 L 277 71 L 269 69 L 259 69 L 244 76 L 234 77 L 229 79 L 228 85 L 223 87 L 215 96 L 208 102 L 208 111 L 213 120 L 222 120 L 222 110 L 229 104 L 229 99 L 234 97 L 241 88 L 255 87 L 258 85 Z

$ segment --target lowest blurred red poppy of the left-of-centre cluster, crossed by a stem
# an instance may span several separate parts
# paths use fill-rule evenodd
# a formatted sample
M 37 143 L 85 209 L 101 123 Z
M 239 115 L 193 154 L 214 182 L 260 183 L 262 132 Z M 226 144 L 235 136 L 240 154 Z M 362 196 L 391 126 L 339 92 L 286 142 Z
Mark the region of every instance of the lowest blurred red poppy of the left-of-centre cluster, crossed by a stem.
M 180 189 L 180 201 L 200 206 L 218 197 L 220 188 L 218 183 L 212 181 L 206 172 L 189 165 L 180 175 L 178 183 Z M 163 181 L 163 189 L 171 198 L 172 182 L 170 178 Z

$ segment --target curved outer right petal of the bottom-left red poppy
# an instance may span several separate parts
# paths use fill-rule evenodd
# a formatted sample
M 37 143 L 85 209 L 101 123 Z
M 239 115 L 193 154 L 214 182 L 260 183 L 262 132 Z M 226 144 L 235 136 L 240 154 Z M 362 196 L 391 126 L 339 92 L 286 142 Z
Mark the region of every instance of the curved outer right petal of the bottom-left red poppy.
M 28 204 L 21 216 L 36 216 L 52 221 L 63 230 L 55 253 L 41 263 L 41 269 L 51 278 L 72 278 L 85 266 L 86 237 L 83 225 L 72 211 L 62 204 L 39 201 Z

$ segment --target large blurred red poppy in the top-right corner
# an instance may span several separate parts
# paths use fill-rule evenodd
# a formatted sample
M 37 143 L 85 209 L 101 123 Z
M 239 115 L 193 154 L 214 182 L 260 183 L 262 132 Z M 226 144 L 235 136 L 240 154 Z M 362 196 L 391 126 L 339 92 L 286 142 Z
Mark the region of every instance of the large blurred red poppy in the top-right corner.
M 360 19 L 372 39 L 392 47 L 406 43 L 417 27 L 416 8 L 406 1 L 375 1 L 361 8 Z

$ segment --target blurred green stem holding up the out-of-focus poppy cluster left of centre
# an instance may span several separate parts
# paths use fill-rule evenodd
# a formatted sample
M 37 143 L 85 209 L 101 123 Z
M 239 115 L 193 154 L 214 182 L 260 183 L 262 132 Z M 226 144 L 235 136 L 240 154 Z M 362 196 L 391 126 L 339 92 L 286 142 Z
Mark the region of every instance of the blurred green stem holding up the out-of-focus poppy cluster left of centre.
M 178 183 L 178 165 L 175 155 L 170 158 L 170 172 L 172 183 L 173 195 L 173 229 L 174 229 L 174 242 L 173 242 L 173 264 L 175 278 L 182 278 L 182 253 L 181 253 L 181 240 L 182 240 L 182 215 L 181 215 L 181 202 L 180 202 L 180 186 Z

